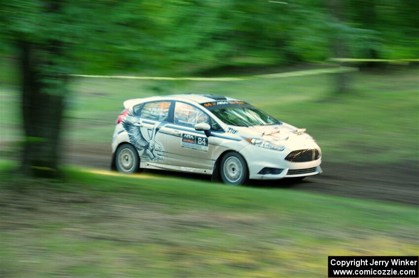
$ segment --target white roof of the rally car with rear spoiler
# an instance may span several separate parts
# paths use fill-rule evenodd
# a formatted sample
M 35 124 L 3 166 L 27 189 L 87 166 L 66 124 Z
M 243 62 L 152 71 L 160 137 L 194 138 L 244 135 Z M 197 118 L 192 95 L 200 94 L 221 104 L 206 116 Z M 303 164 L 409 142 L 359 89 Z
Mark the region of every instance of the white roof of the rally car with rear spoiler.
M 214 94 L 196 94 L 196 93 L 182 93 L 182 94 L 168 94 L 168 95 L 159 95 L 159 96 L 150 96 L 144 98 L 134 98 L 124 101 L 125 108 L 132 107 L 138 103 L 154 100 L 189 100 L 189 102 L 195 103 L 206 103 L 217 100 L 239 100 L 236 98 L 214 95 Z

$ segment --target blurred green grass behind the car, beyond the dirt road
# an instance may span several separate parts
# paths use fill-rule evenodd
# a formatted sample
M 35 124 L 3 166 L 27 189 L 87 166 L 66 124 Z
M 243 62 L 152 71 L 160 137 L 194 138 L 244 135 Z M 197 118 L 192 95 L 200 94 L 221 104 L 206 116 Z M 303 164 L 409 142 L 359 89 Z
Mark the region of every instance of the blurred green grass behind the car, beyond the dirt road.
M 114 121 L 129 98 L 214 93 L 243 99 L 286 123 L 305 127 L 327 161 L 417 161 L 418 68 L 350 74 L 351 93 L 333 94 L 332 74 L 237 82 L 74 78 L 66 103 L 66 141 L 110 144 Z M 20 137 L 15 87 L 1 89 L 1 140 Z

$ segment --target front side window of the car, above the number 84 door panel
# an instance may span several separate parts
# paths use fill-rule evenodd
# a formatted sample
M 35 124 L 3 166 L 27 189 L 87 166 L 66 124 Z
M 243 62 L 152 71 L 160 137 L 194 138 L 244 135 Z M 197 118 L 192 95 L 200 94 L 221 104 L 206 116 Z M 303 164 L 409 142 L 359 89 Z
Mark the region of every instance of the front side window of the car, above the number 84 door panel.
M 195 124 L 199 123 L 210 124 L 210 116 L 208 116 L 201 109 L 192 105 L 183 102 L 176 102 L 173 122 L 175 124 L 194 127 Z

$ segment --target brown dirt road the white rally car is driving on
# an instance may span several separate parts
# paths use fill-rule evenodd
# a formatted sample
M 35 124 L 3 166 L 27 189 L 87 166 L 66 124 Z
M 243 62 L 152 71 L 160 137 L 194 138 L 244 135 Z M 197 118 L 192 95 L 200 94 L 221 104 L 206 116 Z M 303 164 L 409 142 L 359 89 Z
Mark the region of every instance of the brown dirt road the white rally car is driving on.
M 65 148 L 64 162 L 89 168 L 109 169 L 110 146 L 98 144 L 70 144 Z M 323 173 L 298 183 L 279 181 L 251 181 L 250 186 L 269 189 L 287 187 L 336 196 L 371 199 L 419 205 L 418 163 L 348 165 L 323 161 Z M 151 171 L 158 175 L 190 178 L 190 175 Z M 194 175 L 196 179 L 210 179 Z

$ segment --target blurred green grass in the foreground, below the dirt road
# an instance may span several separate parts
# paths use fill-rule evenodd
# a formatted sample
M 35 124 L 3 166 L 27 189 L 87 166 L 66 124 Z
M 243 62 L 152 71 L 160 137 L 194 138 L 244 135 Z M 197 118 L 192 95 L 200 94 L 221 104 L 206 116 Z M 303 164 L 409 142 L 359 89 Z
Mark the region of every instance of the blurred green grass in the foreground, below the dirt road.
M 324 277 L 328 255 L 419 251 L 416 207 L 147 174 L 0 177 L 4 277 Z

